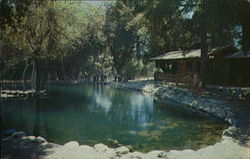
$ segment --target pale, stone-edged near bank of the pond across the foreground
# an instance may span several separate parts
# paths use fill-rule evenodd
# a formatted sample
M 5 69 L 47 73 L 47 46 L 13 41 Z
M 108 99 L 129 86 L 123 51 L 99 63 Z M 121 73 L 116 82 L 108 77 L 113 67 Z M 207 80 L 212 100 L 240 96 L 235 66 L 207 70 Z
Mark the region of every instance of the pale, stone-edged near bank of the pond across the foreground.
M 169 152 L 153 150 L 148 153 L 130 152 L 121 146 L 109 148 L 100 143 L 91 147 L 79 145 L 76 141 L 58 145 L 47 142 L 42 137 L 26 136 L 24 132 L 16 132 L 1 140 L 1 158 L 30 159 L 249 159 L 250 148 L 244 147 L 228 135 L 234 134 L 235 127 L 224 131 L 222 140 L 215 145 L 194 150 L 171 150 Z

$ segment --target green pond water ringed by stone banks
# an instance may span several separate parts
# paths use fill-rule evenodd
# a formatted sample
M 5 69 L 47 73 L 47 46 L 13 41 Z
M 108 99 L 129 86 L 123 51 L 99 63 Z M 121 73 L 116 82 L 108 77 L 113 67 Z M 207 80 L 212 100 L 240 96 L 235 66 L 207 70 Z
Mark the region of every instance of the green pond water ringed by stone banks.
M 81 85 L 49 87 L 43 99 L 1 101 L 1 131 L 11 128 L 58 144 L 115 147 L 117 140 L 148 152 L 215 144 L 226 125 L 139 92 Z

